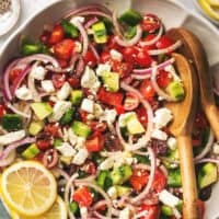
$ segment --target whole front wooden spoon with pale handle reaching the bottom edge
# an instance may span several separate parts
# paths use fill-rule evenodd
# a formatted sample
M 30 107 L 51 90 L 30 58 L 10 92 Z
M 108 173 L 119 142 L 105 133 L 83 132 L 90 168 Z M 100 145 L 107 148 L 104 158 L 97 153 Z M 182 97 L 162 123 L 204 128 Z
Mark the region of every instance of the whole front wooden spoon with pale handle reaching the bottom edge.
M 185 89 L 185 99 L 182 102 L 165 104 L 175 118 L 170 125 L 170 131 L 177 138 L 180 152 L 184 200 L 183 218 L 198 219 L 197 187 L 191 139 L 197 106 L 198 83 L 194 69 L 187 59 L 180 54 L 172 56 L 175 58 L 176 69 Z

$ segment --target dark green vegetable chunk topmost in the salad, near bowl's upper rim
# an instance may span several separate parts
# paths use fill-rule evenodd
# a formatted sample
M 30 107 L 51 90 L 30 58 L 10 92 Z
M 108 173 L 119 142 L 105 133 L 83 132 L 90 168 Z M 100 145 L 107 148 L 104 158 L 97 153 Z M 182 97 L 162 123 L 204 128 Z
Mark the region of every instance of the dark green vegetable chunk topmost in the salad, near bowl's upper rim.
M 124 22 L 128 26 L 135 26 L 141 22 L 142 16 L 137 11 L 129 9 L 125 13 L 123 13 L 118 20 L 120 22 Z

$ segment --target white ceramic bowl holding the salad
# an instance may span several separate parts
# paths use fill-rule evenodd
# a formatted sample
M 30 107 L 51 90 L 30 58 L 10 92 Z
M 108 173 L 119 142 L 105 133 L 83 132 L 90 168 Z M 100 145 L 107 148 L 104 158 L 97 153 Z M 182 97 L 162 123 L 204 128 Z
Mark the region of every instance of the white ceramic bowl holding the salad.
M 65 0 L 47 7 L 41 13 L 28 19 L 9 39 L 5 42 L 0 55 L 0 72 L 4 65 L 14 56 L 19 55 L 19 42 L 22 35 L 36 38 L 44 24 L 53 24 L 58 21 L 68 10 L 92 2 L 106 3 L 110 8 L 124 11 L 129 8 L 129 0 Z M 132 8 L 145 13 L 155 13 L 164 22 L 166 28 L 183 26 L 195 33 L 204 44 L 210 66 L 219 62 L 219 31 L 197 14 L 193 14 L 182 4 L 174 0 L 134 0 Z M 219 184 L 214 188 L 211 198 L 207 201 L 205 219 L 216 219 L 219 217 Z

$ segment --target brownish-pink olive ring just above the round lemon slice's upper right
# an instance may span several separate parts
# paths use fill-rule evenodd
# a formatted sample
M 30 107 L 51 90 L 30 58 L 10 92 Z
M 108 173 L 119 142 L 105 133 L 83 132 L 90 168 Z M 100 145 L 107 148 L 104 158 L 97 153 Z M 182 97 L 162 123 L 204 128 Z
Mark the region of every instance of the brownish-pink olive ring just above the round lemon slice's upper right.
M 56 149 L 48 149 L 43 155 L 43 164 L 47 169 L 54 168 L 58 163 L 58 152 Z

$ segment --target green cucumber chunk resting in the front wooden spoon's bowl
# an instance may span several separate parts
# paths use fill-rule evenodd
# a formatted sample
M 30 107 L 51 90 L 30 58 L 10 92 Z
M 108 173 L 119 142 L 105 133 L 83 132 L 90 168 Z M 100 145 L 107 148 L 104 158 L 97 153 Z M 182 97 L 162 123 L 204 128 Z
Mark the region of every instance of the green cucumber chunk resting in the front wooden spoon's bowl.
M 176 101 L 181 101 L 185 97 L 185 91 L 183 84 L 180 81 L 171 82 L 168 85 L 166 91 L 171 97 L 175 99 Z

